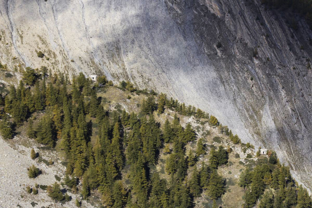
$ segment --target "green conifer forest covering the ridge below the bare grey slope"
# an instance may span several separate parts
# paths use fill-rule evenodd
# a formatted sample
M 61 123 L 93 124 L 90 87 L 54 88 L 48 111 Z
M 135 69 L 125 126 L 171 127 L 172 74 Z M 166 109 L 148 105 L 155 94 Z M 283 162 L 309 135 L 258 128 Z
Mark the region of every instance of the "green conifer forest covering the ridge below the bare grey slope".
M 111 101 L 102 95 L 110 89 L 127 95 L 128 101 L 140 95 L 139 111 L 106 108 Z M 129 81 L 114 85 L 105 75 L 92 82 L 82 73 L 70 79 L 46 67 L 28 67 L 19 85 L 11 85 L 0 98 L 2 137 L 12 140 L 24 128 L 30 140 L 57 150 L 66 166 L 61 181 L 27 186 L 28 194 L 37 195 L 45 186 L 52 200 L 65 205 L 73 200 L 70 193 L 79 194 L 78 207 L 97 201 L 99 207 L 195 208 L 201 207 L 199 199 L 213 208 L 312 207 L 308 191 L 274 150 L 261 155 L 213 115 L 156 89 L 136 89 Z M 158 118 L 162 115 L 163 122 Z M 183 118 L 207 124 L 222 136 L 213 138 L 219 145 L 207 143 L 209 131 L 199 135 L 191 122 L 182 125 Z M 222 145 L 220 139 L 227 142 Z M 240 158 L 237 152 L 253 163 L 237 162 L 237 188 L 230 189 L 232 177 L 224 177 L 221 170 L 228 168 L 231 175 L 231 158 Z M 29 157 L 37 160 L 39 153 L 32 148 Z M 32 180 L 43 172 L 32 165 L 21 174 Z M 237 202 L 241 204 L 224 206 L 225 196 L 235 201 L 236 191 L 243 193 Z

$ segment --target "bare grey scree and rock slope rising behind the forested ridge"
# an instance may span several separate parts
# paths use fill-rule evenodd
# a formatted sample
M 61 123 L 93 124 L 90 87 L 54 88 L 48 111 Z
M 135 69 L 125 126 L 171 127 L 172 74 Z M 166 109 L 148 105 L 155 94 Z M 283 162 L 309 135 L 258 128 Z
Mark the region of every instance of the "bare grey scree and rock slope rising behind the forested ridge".
M 275 149 L 312 187 L 312 33 L 299 17 L 294 31 L 286 11 L 260 0 L 8 0 L 0 12 L 9 68 L 48 65 L 166 92 Z

